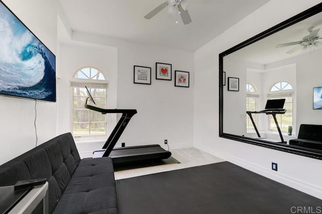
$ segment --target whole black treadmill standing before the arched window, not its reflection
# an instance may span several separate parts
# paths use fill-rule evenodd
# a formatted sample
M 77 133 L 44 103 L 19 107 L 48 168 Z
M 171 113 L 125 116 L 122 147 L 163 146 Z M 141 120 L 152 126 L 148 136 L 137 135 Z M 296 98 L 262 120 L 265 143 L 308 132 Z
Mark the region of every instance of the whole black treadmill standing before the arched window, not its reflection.
M 86 86 L 85 86 L 86 87 Z M 170 151 L 164 150 L 160 145 L 144 145 L 144 146 L 131 146 L 131 147 L 120 147 L 114 148 L 115 144 L 121 137 L 123 131 L 125 130 L 128 122 L 131 120 L 132 116 L 137 113 L 135 109 L 101 109 L 93 105 L 87 104 L 88 99 L 90 98 L 93 103 L 95 103 L 90 91 L 87 89 L 89 97 L 86 99 L 85 108 L 100 112 L 102 114 L 107 113 L 121 113 L 122 116 L 112 131 L 111 135 L 107 139 L 106 143 L 103 146 L 103 150 L 95 151 L 93 153 L 93 158 L 98 157 L 111 157 L 113 164 L 124 164 L 137 161 L 145 160 L 160 160 L 167 159 L 171 156 Z

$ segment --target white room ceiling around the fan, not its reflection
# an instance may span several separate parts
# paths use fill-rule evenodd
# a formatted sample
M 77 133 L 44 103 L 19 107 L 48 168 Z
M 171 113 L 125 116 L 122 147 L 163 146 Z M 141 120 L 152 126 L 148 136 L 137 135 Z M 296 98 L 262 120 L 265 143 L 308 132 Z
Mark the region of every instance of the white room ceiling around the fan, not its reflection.
M 73 32 L 195 51 L 269 0 L 189 0 L 192 22 L 184 25 L 168 8 L 143 17 L 165 0 L 59 0 Z M 170 7 L 170 6 L 168 6 Z

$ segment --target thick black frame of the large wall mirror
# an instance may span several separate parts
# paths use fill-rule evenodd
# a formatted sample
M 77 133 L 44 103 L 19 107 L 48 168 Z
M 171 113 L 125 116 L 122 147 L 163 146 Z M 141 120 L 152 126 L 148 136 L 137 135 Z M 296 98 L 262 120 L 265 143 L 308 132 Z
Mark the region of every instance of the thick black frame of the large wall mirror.
M 322 3 L 219 54 L 219 137 L 322 160 L 322 151 L 223 133 L 223 57 L 322 12 Z

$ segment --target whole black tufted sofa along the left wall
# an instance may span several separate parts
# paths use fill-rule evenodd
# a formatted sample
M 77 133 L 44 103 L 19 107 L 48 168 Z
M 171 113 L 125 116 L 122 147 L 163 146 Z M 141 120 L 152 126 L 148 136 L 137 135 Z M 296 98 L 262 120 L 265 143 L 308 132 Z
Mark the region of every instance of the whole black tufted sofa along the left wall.
M 49 213 L 117 213 L 112 160 L 81 159 L 70 133 L 0 166 L 0 186 L 46 178 Z

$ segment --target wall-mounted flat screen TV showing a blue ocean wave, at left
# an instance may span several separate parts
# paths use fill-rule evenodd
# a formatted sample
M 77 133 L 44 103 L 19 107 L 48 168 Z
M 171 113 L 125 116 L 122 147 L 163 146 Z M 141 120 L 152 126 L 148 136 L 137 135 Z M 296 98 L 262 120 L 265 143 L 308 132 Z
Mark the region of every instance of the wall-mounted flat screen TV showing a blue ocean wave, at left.
M 0 95 L 56 101 L 55 55 L 2 1 Z

